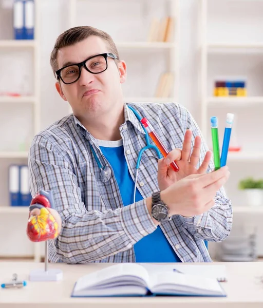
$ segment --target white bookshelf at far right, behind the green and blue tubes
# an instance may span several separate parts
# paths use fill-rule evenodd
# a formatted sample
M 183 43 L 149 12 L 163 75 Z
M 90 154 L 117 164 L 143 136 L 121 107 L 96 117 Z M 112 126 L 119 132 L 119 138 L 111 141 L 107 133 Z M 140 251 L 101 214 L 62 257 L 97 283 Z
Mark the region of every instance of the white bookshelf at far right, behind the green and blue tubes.
M 260 207 L 245 203 L 242 191 L 238 189 L 241 179 L 262 178 L 263 148 L 261 146 L 263 107 L 263 27 L 262 1 L 246 0 L 201 0 L 199 4 L 199 60 L 200 60 L 200 121 L 199 126 L 212 149 L 210 117 L 219 121 L 219 145 L 226 114 L 234 113 L 235 138 L 241 150 L 229 152 L 227 164 L 230 180 L 224 188 L 232 201 L 234 223 L 251 223 L 257 226 L 261 237 Z M 232 76 L 246 78 L 246 97 L 214 97 L 215 80 Z M 231 139 L 233 140 L 233 129 Z M 248 202 L 249 203 L 249 202 Z M 257 220 L 249 221 L 248 214 L 255 214 Z M 260 215 L 259 215 L 260 214 Z M 231 236 L 231 235 L 230 235 Z M 211 248 L 211 247 L 210 247 Z M 258 252 L 263 254 L 263 245 L 258 243 Z

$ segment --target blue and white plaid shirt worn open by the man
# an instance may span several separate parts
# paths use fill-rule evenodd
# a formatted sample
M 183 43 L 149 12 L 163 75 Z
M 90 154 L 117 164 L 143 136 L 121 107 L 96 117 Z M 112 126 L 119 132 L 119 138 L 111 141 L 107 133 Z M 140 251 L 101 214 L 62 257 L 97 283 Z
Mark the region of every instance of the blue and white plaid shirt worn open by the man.
M 147 117 L 169 151 L 182 148 L 186 129 L 193 131 L 192 147 L 194 137 L 201 136 L 189 111 L 178 104 L 129 105 L 142 117 Z M 135 180 L 138 153 L 146 144 L 145 133 L 126 103 L 124 113 L 125 122 L 120 126 L 120 133 L 128 169 Z M 100 170 L 89 143 L 93 144 L 103 165 L 108 165 L 96 139 L 73 114 L 38 133 L 32 142 L 29 155 L 31 194 L 34 196 L 40 189 L 52 190 L 55 209 L 62 218 L 60 235 L 49 241 L 49 260 L 135 262 L 134 244 L 154 232 L 156 225 L 145 200 L 124 207 L 115 177 L 107 183 L 100 181 Z M 207 150 L 202 142 L 200 162 Z M 143 198 L 159 189 L 157 160 L 152 149 L 142 156 L 137 188 Z M 208 172 L 213 169 L 211 161 Z M 206 213 L 191 218 L 174 215 L 160 227 L 182 262 L 212 262 L 203 240 L 219 242 L 230 234 L 231 202 L 221 188 L 215 196 L 215 205 Z

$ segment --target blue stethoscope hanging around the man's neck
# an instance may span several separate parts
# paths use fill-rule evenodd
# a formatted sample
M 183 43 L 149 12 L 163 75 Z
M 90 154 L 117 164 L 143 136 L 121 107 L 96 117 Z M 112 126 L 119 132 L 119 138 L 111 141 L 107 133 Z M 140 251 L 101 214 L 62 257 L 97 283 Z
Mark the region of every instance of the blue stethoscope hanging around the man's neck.
M 136 118 L 139 120 L 139 122 L 140 122 L 140 124 L 141 124 L 141 119 L 142 119 L 142 117 L 140 117 L 140 114 L 139 114 L 133 107 L 128 106 L 128 108 L 134 112 L 134 114 L 136 115 Z M 146 131 L 146 129 L 143 127 L 142 124 L 141 124 L 141 126 L 142 126 L 142 128 L 143 128 L 143 130 L 144 130 L 144 132 L 145 132 L 146 146 L 144 146 L 144 147 L 140 150 L 139 155 L 138 155 L 138 159 L 137 159 L 137 164 L 136 164 L 136 175 L 135 175 L 135 185 L 134 185 L 134 203 L 135 203 L 135 194 L 136 194 L 136 183 L 137 183 L 137 179 L 138 179 L 138 174 L 139 174 L 139 168 L 140 168 L 142 153 L 143 153 L 145 150 L 152 148 L 152 149 L 154 149 L 154 150 L 156 151 L 158 158 L 159 158 L 159 159 L 162 158 L 161 153 L 160 153 L 158 147 L 155 146 L 155 145 L 150 144 L 148 132 Z M 101 164 L 101 162 L 100 162 L 100 160 L 99 160 L 99 158 L 98 158 L 98 156 L 97 156 L 95 150 L 93 149 L 93 146 L 91 145 L 91 143 L 89 143 L 89 144 L 90 144 L 90 148 L 91 148 L 93 157 L 95 158 L 96 163 L 97 163 L 97 165 L 98 165 L 98 167 L 99 167 L 99 169 L 100 169 L 100 180 L 101 180 L 103 183 L 106 183 L 106 182 L 108 182 L 108 181 L 110 180 L 110 178 L 111 178 L 111 176 L 112 176 L 112 174 L 111 174 L 111 169 L 110 169 L 109 166 L 106 166 L 106 165 L 103 166 L 103 165 Z

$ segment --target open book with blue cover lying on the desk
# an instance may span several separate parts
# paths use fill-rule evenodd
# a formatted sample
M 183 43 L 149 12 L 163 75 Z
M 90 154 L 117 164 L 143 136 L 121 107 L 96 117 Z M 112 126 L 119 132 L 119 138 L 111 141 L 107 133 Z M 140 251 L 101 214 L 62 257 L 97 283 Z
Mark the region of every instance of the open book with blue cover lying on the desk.
M 140 264 L 120 263 L 81 277 L 71 297 L 145 295 L 226 296 L 216 278 L 148 272 Z

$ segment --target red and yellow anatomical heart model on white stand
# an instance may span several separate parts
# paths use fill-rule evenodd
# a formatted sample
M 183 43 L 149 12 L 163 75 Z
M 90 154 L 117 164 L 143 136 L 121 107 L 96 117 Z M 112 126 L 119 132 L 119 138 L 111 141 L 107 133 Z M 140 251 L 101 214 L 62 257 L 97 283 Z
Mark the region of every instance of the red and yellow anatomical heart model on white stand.
M 31 215 L 27 224 L 27 236 L 32 242 L 45 241 L 45 268 L 37 268 L 30 272 L 30 281 L 58 281 L 63 279 L 61 269 L 48 269 L 48 240 L 55 239 L 61 229 L 61 219 L 53 208 L 53 196 L 50 190 L 40 190 L 32 199 L 29 207 L 40 210 L 39 215 Z M 48 210 L 52 208 L 52 212 Z

